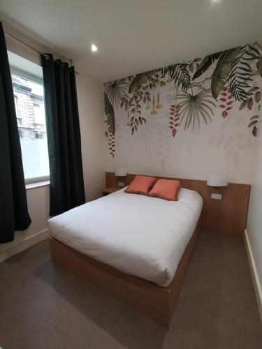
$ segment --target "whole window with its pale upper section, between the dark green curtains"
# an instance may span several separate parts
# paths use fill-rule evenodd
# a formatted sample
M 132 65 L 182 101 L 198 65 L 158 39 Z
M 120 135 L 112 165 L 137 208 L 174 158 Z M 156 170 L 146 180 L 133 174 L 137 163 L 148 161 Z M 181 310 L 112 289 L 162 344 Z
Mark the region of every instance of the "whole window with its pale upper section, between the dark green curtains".
M 42 68 L 11 52 L 8 52 L 8 58 L 22 149 L 24 178 L 27 182 L 35 179 L 48 179 L 48 142 Z

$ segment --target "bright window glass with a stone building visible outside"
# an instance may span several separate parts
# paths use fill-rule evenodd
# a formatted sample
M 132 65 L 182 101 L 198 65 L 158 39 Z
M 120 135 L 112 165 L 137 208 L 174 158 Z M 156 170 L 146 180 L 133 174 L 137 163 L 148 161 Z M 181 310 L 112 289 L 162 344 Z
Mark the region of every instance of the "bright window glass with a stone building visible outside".
M 43 84 L 12 74 L 24 178 L 49 176 Z

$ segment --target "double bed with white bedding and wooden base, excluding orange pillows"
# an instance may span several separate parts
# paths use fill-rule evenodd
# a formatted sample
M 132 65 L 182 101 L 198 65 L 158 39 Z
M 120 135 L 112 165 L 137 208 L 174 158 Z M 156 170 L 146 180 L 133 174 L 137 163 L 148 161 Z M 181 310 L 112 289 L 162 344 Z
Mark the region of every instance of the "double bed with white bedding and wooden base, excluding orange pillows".
M 52 260 L 168 326 L 202 206 L 186 188 L 177 202 L 123 188 L 49 220 Z

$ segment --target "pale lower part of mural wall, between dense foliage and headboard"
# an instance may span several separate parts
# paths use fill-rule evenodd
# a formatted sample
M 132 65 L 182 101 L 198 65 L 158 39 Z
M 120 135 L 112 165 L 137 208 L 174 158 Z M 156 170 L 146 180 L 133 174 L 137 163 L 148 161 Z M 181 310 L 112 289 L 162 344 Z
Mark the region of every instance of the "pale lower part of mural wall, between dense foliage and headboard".
M 115 113 L 116 152 L 112 158 L 107 151 L 106 170 L 124 167 L 129 173 L 203 180 L 222 174 L 229 182 L 251 183 L 256 138 L 247 128 L 245 111 L 228 119 L 216 114 L 207 126 L 175 138 L 168 128 L 168 110 L 154 117 L 146 113 L 147 124 L 133 136 L 126 128 L 126 115 Z

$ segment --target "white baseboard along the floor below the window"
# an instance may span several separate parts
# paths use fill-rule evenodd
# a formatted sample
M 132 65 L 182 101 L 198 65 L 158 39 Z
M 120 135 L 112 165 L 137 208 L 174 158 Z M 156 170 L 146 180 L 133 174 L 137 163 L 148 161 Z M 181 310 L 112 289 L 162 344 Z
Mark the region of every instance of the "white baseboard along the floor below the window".
M 16 244 L 13 244 L 9 248 L 7 248 L 5 251 L 0 251 L 0 262 L 3 262 L 3 260 L 6 260 L 12 257 L 12 255 L 16 255 L 17 253 L 24 251 L 25 249 L 33 246 L 34 244 L 41 242 L 47 237 L 49 237 L 49 230 L 45 229 L 45 230 L 42 230 L 41 232 L 37 232 L 36 234 L 31 235 L 30 237 L 27 237 L 21 242 L 17 242 Z

